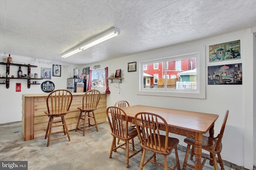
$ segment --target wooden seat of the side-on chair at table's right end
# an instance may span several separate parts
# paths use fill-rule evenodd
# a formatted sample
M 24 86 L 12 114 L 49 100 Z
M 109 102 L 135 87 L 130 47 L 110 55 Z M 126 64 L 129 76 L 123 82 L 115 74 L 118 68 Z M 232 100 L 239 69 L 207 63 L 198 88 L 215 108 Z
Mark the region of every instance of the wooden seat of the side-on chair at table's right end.
M 184 142 L 187 143 L 187 144 L 193 145 L 193 146 L 196 145 L 194 138 L 186 137 L 186 138 L 184 139 Z M 218 154 L 218 153 L 221 152 L 222 144 L 220 144 L 220 147 L 218 147 L 218 149 L 215 150 L 215 147 L 216 147 L 217 142 L 218 142 L 218 140 L 203 135 L 203 139 L 202 139 L 202 148 L 203 148 L 204 150 L 209 151 L 209 152 Z

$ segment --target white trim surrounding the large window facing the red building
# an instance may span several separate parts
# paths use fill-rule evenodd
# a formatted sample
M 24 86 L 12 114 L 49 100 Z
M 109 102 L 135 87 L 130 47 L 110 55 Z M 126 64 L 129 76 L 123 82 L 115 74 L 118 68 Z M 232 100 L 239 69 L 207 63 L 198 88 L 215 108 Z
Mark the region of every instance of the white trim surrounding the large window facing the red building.
M 160 54 L 161 55 L 161 54 Z M 164 55 L 168 55 L 164 53 Z M 205 64 L 205 46 L 198 46 L 190 49 L 184 49 L 182 51 L 172 51 L 171 57 L 163 56 L 162 59 L 154 59 L 150 61 L 141 61 L 139 64 L 139 91 L 138 95 L 152 95 L 152 96 L 167 96 L 167 97 L 185 97 L 185 98 L 197 98 L 205 99 L 205 87 L 206 87 L 206 64 Z M 175 59 L 183 59 L 188 57 L 196 57 L 196 82 L 197 89 L 144 89 L 143 88 L 143 64 L 169 61 Z

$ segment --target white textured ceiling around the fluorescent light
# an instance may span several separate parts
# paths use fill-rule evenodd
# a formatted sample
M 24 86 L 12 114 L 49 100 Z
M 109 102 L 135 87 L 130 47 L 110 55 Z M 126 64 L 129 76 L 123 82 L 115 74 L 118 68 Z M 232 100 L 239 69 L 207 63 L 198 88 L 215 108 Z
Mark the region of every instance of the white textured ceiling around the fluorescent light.
M 256 0 L 0 0 L 0 53 L 88 64 L 256 26 Z M 106 42 L 61 54 L 111 27 Z

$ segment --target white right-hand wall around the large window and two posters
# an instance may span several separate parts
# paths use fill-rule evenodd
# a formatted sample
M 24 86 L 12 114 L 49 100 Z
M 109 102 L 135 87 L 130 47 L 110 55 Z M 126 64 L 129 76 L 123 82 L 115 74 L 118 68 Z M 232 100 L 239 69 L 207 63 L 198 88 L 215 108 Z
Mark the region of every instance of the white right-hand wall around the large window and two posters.
M 209 63 L 208 46 L 223 42 L 241 40 L 241 59 L 231 61 L 221 61 Z M 230 112 L 226 129 L 223 137 L 222 158 L 239 166 L 253 169 L 255 165 L 255 149 L 253 144 L 253 34 L 251 29 L 233 32 L 230 34 L 220 35 L 204 40 L 184 43 L 172 47 L 147 51 L 135 55 L 130 55 L 110 61 L 93 63 L 101 67 L 109 67 L 110 73 L 115 73 L 116 69 L 121 69 L 122 83 L 118 87 L 118 81 L 110 84 L 111 94 L 107 95 L 107 106 L 112 106 L 116 101 L 125 99 L 130 105 L 152 105 L 156 107 L 165 107 L 172 109 L 184 109 L 198 111 L 203 113 L 218 114 L 219 118 L 215 123 L 215 134 L 220 132 L 220 127 L 228 109 Z M 173 51 L 181 51 L 185 48 L 195 47 L 197 45 L 206 45 L 206 76 L 207 67 L 211 65 L 242 63 L 243 84 L 242 85 L 207 85 L 206 82 L 206 99 L 190 99 L 179 97 L 158 97 L 137 95 L 139 89 L 139 62 L 150 59 L 161 58 L 163 54 Z M 137 71 L 127 71 L 127 63 L 137 61 Z M 206 77 L 207 80 L 207 77 Z M 115 86 L 114 86 L 115 85 Z M 254 86 L 255 87 L 255 86 Z M 255 124 L 255 122 L 254 122 Z M 180 139 L 180 144 L 184 137 L 174 135 Z

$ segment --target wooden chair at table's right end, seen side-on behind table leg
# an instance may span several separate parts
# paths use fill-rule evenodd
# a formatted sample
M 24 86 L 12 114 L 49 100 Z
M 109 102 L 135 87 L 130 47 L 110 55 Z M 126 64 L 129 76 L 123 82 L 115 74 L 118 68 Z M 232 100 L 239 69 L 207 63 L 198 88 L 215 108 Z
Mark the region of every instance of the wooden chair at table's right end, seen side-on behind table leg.
M 214 162 L 214 170 L 218 170 L 218 164 L 217 162 L 219 162 L 221 170 L 224 170 L 224 165 L 222 162 L 222 158 L 220 156 L 220 152 L 222 150 L 222 137 L 223 137 L 223 133 L 224 133 L 224 129 L 226 126 L 226 122 L 228 119 L 228 113 L 229 111 L 226 111 L 226 115 L 224 117 L 223 123 L 222 123 L 222 127 L 220 129 L 220 133 L 216 136 L 216 137 L 208 137 L 208 136 L 204 136 L 203 135 L 203 139 L 202 139 L 202 149 L 207 150 L 208 152 L 210 152 L 210 154 L 212 154 L 212 158 L 208 157 L 208 156 L 202 156 L 202 158 L 204 158 L 203 162 L 202 162 L 202 167 L 204 166 L 206 159 L 211 160 Z M 188 164 L 188 155 L 189 155 L 189 150 L 190 150 L 190 146 L 192 145 L 192 149 L 191 149 L 191 154 L 190 154 L 190 160 L 193 160 L 193 156 L 194 156 L 194 150 L 195 150 L 195 139 L 194 138 L 189 138 L 186 137 L 184 139 L 184 142 L 188 144 L 187 146 L 187 151 L 186 151 L 186 155 L 184 158 L 184 163 L 183 163 L 183 169 L 186 169 L 186 166 L 189 166 L 190 168 L 195 168 L 193 165 Z M 218 160 L 216 159 L 216 154 L 218 155 Z

